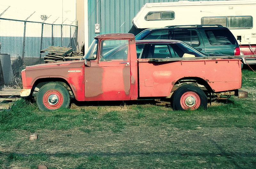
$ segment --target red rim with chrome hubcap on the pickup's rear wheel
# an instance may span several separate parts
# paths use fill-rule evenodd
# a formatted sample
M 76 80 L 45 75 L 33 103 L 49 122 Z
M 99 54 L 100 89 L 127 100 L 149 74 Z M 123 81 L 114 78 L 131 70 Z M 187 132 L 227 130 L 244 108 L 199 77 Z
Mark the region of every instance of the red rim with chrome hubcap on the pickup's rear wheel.
M 180 105 L 184 110 L 195 110 L 199 108 L 201 104 L 200 97 L 195 92 L 186 92 L 180 98 Z

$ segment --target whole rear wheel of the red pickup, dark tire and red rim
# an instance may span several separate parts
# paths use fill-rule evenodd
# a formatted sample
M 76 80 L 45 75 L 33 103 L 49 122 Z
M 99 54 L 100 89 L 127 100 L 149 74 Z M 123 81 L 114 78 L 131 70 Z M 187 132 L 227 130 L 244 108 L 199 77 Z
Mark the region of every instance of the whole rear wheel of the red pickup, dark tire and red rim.
M 173 110 L 195 110 L 199 107 L 207 108 L 207 96 L 200 88 L 184 85 L 174 92 L 172 97 Z

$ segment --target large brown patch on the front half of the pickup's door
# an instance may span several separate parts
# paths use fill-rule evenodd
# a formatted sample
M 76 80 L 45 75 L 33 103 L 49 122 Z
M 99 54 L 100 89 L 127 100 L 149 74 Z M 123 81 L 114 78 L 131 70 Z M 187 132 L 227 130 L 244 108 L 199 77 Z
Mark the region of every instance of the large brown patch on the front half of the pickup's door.
M 103 93 L 102 90 L 102 67 L 85 67 L 85 97 L 94 97 Z M 86 99 L 85 99 L 86 100 Z

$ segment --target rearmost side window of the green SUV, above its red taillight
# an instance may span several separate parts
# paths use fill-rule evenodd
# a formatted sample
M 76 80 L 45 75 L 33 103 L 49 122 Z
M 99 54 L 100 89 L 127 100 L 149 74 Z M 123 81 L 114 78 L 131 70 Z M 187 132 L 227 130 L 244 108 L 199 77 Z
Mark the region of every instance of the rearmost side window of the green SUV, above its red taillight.
M 236 41 L 227 29 L 204 30 L 211 45 L 235 45 Z

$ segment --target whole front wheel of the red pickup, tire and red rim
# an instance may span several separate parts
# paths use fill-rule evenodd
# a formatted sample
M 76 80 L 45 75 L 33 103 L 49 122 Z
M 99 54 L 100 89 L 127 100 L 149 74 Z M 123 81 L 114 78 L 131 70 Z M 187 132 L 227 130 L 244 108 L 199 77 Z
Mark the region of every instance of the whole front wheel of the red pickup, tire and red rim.
M 47 83 L 39 89 L 36 104 L 42 111 L 68 108 L 70 104 L 68 89 L 59 83 Z

